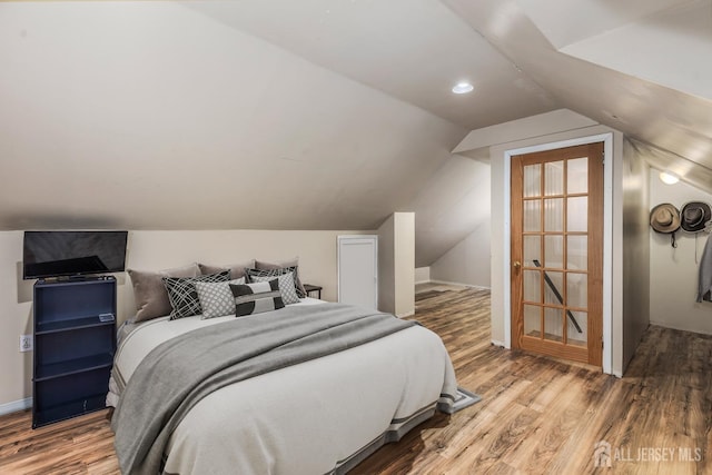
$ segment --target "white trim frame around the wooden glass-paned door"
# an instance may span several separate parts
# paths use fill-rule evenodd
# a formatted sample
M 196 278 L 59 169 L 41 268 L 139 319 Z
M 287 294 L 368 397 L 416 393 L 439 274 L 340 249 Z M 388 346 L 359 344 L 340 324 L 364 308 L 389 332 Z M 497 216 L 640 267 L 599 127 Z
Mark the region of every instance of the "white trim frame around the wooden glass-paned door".
M 536 151 L 553 150 L 577 145 L 603 142 L 603 373 L 612 373 L 613 362 L 613 133 L 577 137 L 550 144 L 522 147 L 504 152 L 504 241 L 512 240 L 512 157 Z M 511 246 L 504 246 L 504 346 L 512 348 L 512 256 Z

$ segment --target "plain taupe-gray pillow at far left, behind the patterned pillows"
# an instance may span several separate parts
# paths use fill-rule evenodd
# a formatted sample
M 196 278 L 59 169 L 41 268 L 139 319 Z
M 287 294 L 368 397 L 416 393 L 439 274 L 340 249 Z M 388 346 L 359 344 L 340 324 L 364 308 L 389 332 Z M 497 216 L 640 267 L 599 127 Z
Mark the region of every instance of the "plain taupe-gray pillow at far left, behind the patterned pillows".
M 171 306 L 168 291 L 161 280 L 164 277 L 196 277 L 200 275 L 197 264 L 165 270 L 127 269 L 134 286 L 136 299 L 135 321 L 146 321 L 151 318 L 165 317 L 170 314 Z

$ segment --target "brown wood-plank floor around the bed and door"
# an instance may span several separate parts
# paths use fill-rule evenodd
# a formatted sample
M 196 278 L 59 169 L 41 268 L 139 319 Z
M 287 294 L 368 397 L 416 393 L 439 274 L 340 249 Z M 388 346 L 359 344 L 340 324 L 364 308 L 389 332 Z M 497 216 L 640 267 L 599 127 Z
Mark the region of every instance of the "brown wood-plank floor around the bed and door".
M 435 416 L 353 474 L 712 473 L 712 336 L 651 327 L 617 379 L 492 346 L 487 291 L 419 294 L 415 318 L 483 400 Z M 0 417 L 0 474 L 119 473 L 106 410 L 37 431 L 30 419 Z M 594 465 L 601 441 L 612 469 Z

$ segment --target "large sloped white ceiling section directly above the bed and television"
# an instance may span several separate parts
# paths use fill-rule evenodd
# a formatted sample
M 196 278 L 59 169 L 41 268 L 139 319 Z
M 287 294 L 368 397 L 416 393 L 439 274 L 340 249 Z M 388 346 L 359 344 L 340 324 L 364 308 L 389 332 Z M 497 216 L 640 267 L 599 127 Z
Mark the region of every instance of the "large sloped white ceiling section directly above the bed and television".
M 189 7 L 0 3 L 1 228 L 374 229 L 467 132 Z

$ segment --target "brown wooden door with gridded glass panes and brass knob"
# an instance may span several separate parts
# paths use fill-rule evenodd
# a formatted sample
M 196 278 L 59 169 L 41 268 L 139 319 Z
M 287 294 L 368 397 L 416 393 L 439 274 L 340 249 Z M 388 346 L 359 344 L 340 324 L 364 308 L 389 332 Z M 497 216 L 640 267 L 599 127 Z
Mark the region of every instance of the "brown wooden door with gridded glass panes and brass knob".
M 512 158 L 512 346 L 602 365 L 603 144 Z

